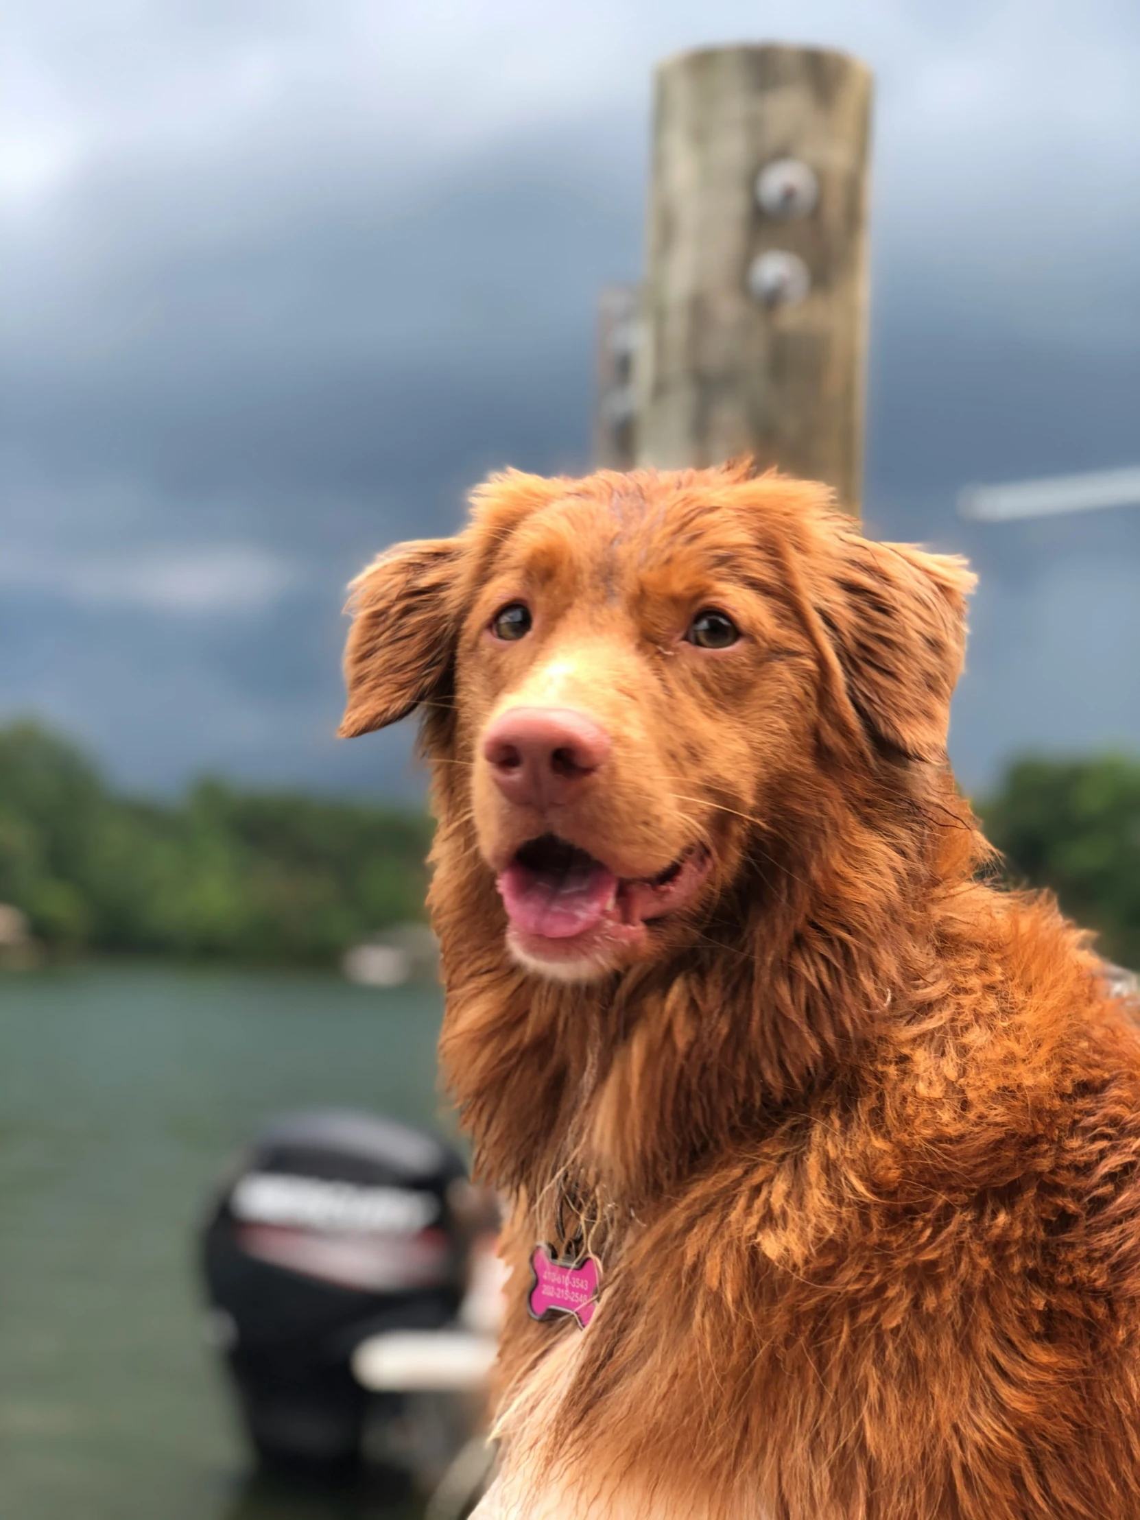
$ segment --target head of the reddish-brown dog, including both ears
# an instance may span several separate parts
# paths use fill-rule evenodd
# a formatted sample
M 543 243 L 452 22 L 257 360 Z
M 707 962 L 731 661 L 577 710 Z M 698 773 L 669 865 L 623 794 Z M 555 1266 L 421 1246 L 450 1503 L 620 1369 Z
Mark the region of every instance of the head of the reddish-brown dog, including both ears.
M 690 942 L 824 786 L 944 765 L 971 584 L 816 485 L 512 473 L 356 581 L 342 733 L 423 707 L 511 953 L 591 979 Z

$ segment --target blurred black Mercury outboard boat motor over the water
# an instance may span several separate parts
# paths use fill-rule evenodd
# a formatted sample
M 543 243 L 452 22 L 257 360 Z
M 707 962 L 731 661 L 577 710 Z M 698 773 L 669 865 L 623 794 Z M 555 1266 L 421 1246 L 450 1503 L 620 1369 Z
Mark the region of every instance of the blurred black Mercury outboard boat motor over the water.
M 494 1354 L 458 1321 L 488 1224 L 461 1158 L 416 1129 L 313 1111 L 257 1135 L 211 1208 L 204 1266 L 211 1339 L 263 1462 L 363 1459 L 430 1487 L 471 1435 Z M 382 1373 L 362 1380 L 377 1348 Z

